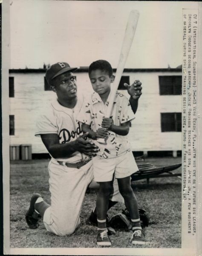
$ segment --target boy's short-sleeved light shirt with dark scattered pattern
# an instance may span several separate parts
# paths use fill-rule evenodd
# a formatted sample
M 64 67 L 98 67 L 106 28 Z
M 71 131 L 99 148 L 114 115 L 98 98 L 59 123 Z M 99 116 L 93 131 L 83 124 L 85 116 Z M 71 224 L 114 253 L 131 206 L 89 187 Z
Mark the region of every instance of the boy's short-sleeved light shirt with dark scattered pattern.
M 103 103 L 99 94 L 96 92 L 92 93 L 90 97 L 84 100 L 77 117 L 78 121 L 90 125 L 91 129 L 96 132 L 98 128 L 101 128 L 102 118 L 104 113 L 106 113 L 108 104 L 108 101 Z M 113 123 L 117 126 L 135 118 L 129 100 L 119 92 L 116 92 L 111 118 L 113 118 Z M 118 135 L 111 131 L 110 135 L 106 137 L 106 145 L 99 144 L 96 140 L 93 140 L 93 142 L 100 148 L 97 155 L 104 159 L 116 157 L 130 150 L 127 136 Z

